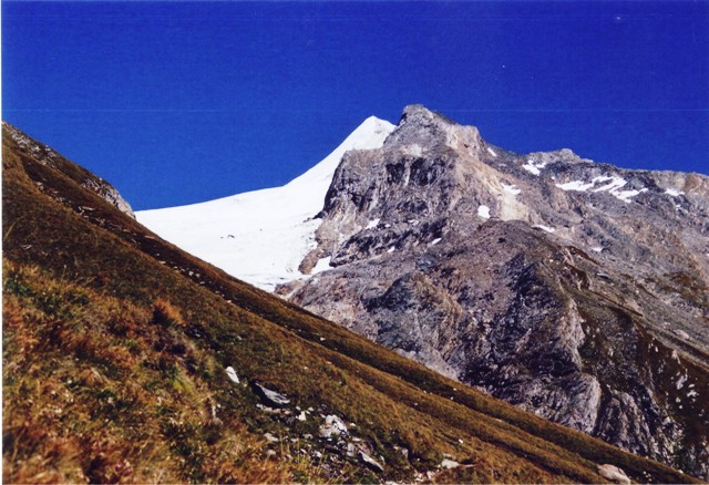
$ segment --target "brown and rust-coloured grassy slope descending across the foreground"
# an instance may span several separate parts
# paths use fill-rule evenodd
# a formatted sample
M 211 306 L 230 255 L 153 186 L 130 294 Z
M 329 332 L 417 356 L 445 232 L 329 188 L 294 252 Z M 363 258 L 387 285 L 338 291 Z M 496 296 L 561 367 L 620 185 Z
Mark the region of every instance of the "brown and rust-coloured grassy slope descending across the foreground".
M 6 481 L 373 478 L 356 461 L 328 469 L 325 444 L 302 438 L 317 411 L 356 423 L 386 478 L 448 454 L 471 466 L 438 479 L 600 482 L 595 464 L 614 463 L 643 482 L 689 481 L 242 283 L 3 144 Z M 227 365 L 316 413 L 264 413 Z M 297 441 L 266 461 L 266 431 Z

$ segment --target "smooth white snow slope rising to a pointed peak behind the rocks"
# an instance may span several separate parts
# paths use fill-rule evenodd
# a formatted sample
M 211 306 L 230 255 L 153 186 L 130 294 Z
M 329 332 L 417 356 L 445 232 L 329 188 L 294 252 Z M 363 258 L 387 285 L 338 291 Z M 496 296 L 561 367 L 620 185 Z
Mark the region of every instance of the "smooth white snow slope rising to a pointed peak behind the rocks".
M 302 278 L 298 266 L 315 248 L 325 195 L 348 149 L 380 147 L 394 126 L 367 118 L 330 155 L 282 187 L 165 209 L 137 220 L 162 238 L 229 275 L 266 290 Z M 314 270 L 321 270 L 322 265 Z

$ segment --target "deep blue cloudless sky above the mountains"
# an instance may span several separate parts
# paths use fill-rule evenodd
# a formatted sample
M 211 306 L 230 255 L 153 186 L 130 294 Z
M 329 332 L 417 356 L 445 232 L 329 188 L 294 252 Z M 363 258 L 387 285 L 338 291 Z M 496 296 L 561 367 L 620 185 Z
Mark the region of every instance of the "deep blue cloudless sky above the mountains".
M 709 1 L 3 1 L 2 97 L 137 209 L 281 185 L 411 103 L 707 174 Z

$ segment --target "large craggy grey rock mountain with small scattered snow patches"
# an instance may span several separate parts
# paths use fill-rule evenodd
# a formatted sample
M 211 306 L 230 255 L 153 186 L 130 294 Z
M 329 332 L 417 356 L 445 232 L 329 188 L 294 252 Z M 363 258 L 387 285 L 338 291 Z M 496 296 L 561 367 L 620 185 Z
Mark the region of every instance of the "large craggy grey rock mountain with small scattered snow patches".
M 709 478 L 709 178 L 517 155 L 423 106 L 348 152 L 294 302 Z

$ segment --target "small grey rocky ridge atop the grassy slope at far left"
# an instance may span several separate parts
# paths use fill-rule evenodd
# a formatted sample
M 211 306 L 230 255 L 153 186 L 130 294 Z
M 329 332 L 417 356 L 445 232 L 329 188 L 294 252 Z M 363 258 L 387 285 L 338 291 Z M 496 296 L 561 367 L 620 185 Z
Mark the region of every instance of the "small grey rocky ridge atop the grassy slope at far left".
M 68 161 L 49 146 L 35 142 L 14 126 L 2 122 L 2 136 L 10 137 L 18 146 L 18 152 L 27 152 L 37 157 L 42 164 L 48 165 L 65 176 L 74 179 L 82 186 L 96 193 L 101 198 L 115 208 L 135 218 L 131 205 L 121 196 L 119 190 L 101 177 L 95 176 L 83 167 Z M 41 187 L 40 187 L 41 188 Z

